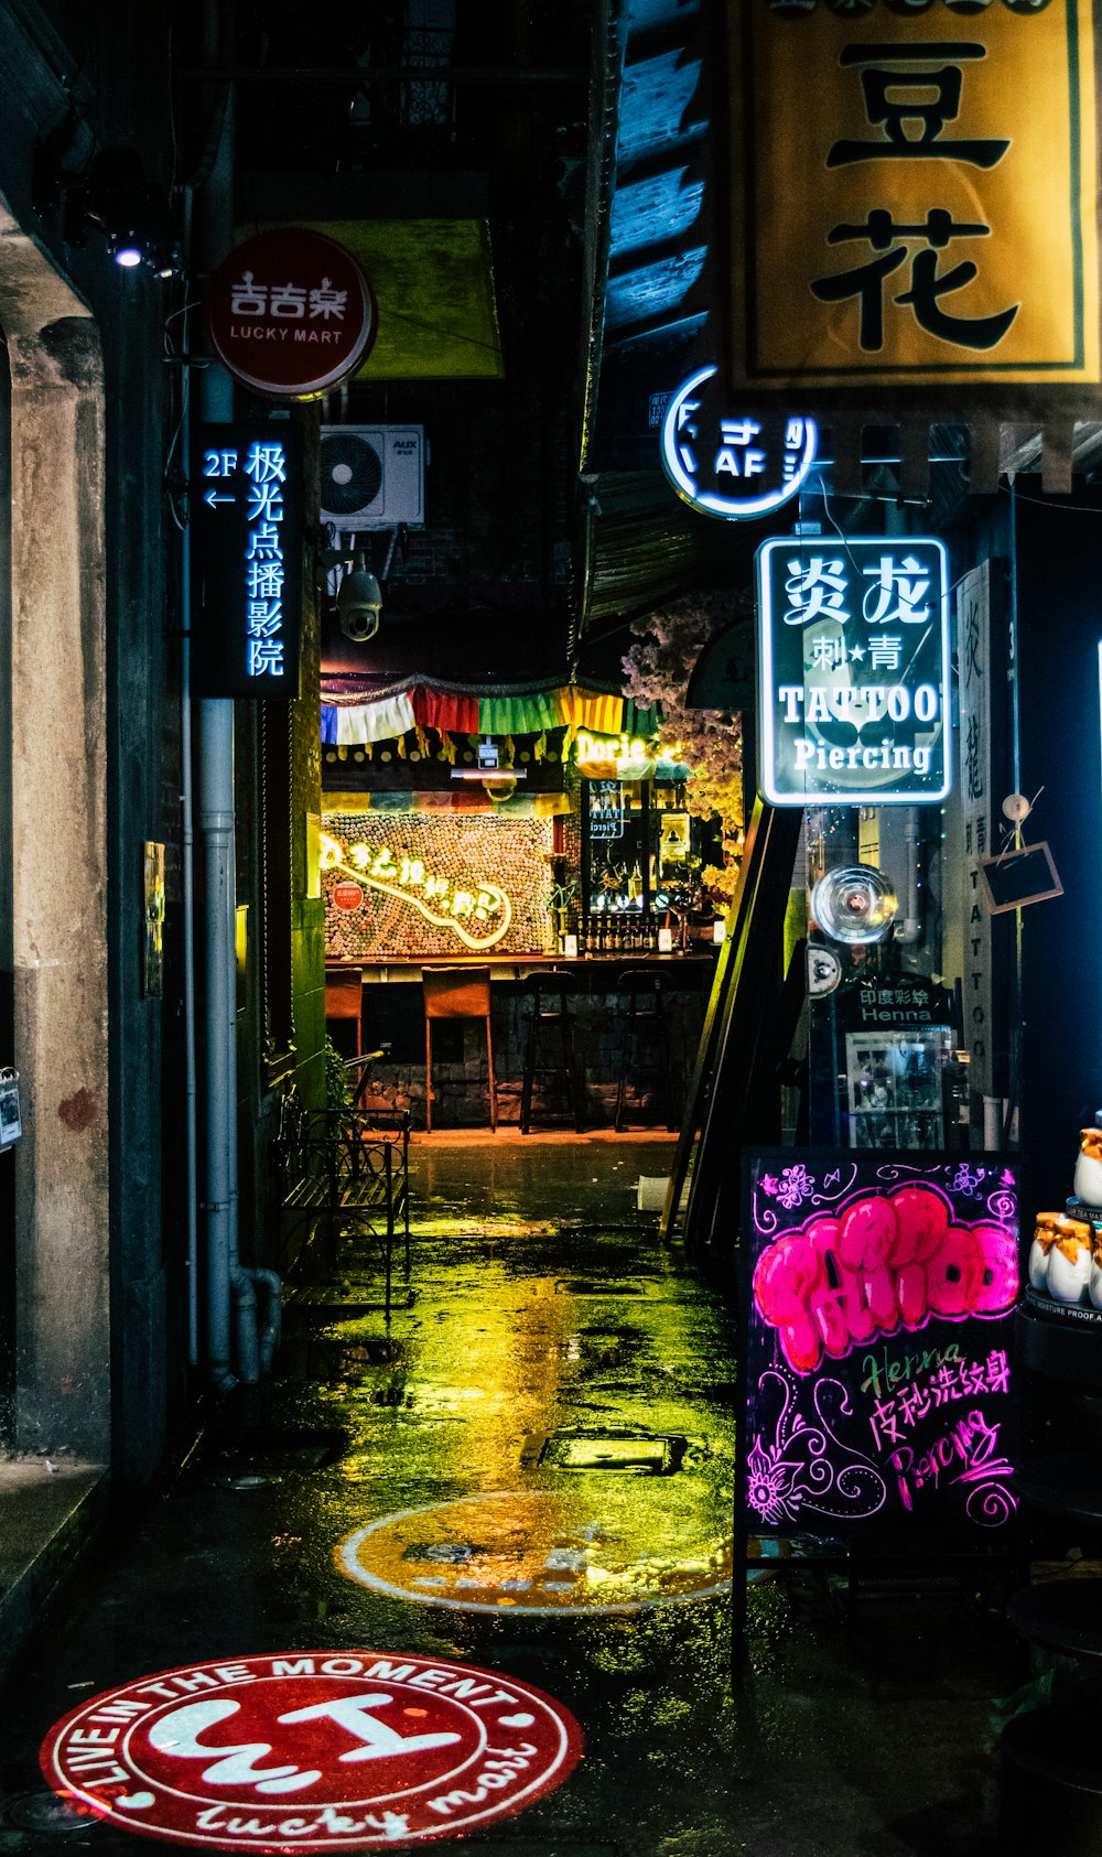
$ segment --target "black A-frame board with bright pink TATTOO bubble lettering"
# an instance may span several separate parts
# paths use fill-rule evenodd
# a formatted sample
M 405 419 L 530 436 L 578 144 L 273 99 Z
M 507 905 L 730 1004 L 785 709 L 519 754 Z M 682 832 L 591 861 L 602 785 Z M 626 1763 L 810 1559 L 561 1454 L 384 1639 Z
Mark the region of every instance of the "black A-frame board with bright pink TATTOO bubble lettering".
M 996 1545 L 1017 1508 L 1018 1168 L 745 1155 L 736 1538 Z

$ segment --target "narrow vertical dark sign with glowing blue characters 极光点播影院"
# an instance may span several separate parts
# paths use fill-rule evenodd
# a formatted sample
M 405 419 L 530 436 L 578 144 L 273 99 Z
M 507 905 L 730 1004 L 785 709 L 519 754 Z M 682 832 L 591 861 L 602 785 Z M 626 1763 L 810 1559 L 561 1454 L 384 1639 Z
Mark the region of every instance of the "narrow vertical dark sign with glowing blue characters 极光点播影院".
M 191 459 L 191 667 L 201 696 L 299 695 L 303 472 L 288 422 L 206 425 Z

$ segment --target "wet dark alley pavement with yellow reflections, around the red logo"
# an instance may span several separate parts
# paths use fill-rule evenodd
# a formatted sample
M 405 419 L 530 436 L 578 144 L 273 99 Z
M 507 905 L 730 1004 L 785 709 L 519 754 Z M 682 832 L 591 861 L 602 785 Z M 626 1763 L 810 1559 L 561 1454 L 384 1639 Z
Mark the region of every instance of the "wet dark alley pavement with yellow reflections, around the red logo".
M 836 1573 L 764 1564 L 732 1695 L 732 1317 L 636 1203 L 673 1149 L 667 1136 L 414 1138 L 409 1300 L 398 1278 L 387 1322 L 379 1259 L 359 1242 L 294 1285 L 264 1402 L 208 1426 L 4 1692 L 0 1857 L 141 1850 L 128 1827 L 71 1816 L 37 1768 L 52 1723 L 102 1692 L 310 1653 L 312 1669 L 370 1677 L 379 1695 L 362 1707 L 379 1708 L 387 1666 L 357 1664 L 361 1651 L 405 1682 L 435 1671 L 437 1690 L 452 1662 L 474 1666 L 509 1697 L 513 1746 L 492 1785 L 515 1814 L 491 1799 L 461 1833 L 444 1824 L 459 1807 L 437 1799 L 431 1829 L 472 1857 L 994 1851 L 994 1733 L 1024 1671 L 998 1606 L 966 1586 L 916 1597 L 888 1580 L 857 1604 Z M 186 1681 L 188 1699 L 212 1682 Z M 528 1801 L 505 1777 L 509 1760 L 539 1764 L 522 1747 L 541 1703 L 522 1686 L 584 1738 L 580 1762 Z M 229 1746 L 217 1714 L 204 1733 L 204 1747 Z M 533 1742 L 518 1751 L 520 1733 Z M 355 1759 L 375 1768 L 377 1753 Z M 279 1772 L 292 1779 L 269 1792 L 299 1785 Z M 206 1842 L 184 1848 L 305 1848 L 299 1807 L 266 1809 L 232 1835 L 216 1812 Z M 387 1842 L 401 1846 L 401 1824 L 394 1811 Z

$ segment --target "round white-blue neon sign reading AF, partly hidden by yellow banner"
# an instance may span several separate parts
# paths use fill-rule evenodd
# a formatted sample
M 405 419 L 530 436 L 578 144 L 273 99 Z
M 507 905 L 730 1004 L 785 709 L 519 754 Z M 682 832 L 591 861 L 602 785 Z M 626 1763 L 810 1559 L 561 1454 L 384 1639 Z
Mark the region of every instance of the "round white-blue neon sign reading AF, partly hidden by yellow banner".
M 797 414 L 723 407 L 717 370 L 701 368 L 673 396 L 662 422 L 662 464 L 676 494 L 706 516 L 749 522 L 781 509 L 816 461 L 816 422 Z

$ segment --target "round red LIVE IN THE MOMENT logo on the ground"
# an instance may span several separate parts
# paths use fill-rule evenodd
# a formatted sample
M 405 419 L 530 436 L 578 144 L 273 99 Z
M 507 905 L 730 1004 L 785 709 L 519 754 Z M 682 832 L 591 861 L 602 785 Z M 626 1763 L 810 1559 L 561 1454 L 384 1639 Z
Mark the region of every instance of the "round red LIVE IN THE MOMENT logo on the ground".
M 171 1844 L 364 1850 L 518 1812 L 582 1753 L 550 1695 L 472 1664 L 288 1651 L 191 1664 L 82 1703 L 43 1742 L 78 1811 Z

